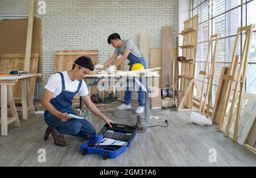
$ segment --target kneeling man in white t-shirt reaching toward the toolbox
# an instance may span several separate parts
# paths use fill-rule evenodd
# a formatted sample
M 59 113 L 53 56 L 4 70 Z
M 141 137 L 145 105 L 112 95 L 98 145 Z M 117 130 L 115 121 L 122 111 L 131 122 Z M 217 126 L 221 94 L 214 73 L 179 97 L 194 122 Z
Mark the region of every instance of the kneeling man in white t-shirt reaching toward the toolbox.
M 49 134 L 52 134 L 56 145 L 67 146 L 68 143 L 64 140 L 64 135 L 86 139 L 96 136 L 96 130 L 89 121 L 68 116 L 68 114 L 77 115 L 72 110 L 72 99 L 76 94 L 79 94 L 92 113 L 103 119 L 110 127 L 111 123 L 114 123 L 97 109 L 88 95 L 84 78 L 86 74 L 93 71 L 93 68 L 92 60 L 82 56 L 73 63 L 71 71 L 55 73 L 49 78 L 42 99 L 42 106 L 46 109 L 44 119 L 49 126 L 44 135 L 45 140 Z

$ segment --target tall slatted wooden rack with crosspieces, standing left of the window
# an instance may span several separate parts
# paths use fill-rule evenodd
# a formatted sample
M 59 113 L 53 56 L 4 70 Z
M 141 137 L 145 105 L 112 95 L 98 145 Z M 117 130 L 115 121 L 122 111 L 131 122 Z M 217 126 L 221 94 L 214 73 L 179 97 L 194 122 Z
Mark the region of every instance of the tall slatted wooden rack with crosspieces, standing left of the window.
M 178 104 L 178 111 L 199 111 L 199 109 L 192 109 L 193 107 L 193 89 L 194 86 L 197 91 L 197 95 L 200 97 L 199 88 L 195 80 L 196 70 L 196 46 L 197 46 L 197 29 L 199 28 L 199 15 L 195 15 L 192 18 L 185 20 L 184 31 L 180 33 L 183 35 L 182 56 L 187 60 L 192 61 L 179 61 L 181 63 L 181 74 L 177 76 L 174 84 L 174 88 L 177 86 L 180 80 L 180 90 L 184 92 L 181 102 Z

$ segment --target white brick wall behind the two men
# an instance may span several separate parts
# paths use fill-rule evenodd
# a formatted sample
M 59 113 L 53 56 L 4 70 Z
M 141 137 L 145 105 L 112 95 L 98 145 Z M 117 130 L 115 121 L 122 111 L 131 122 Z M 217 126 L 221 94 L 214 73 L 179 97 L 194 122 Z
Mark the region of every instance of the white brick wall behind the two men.
M 0 0 L 0 14 L 28 14 L 28 8 L 29 0 Z M 38 15 L 38 0 L 35 14 Z M 113 32 L 139 46 L 139 33 L 146 31 L 148 47 L 160 48 L 162 26 L 173 26 L 175 47 L 177 15 L 177 0 L 46 0 L 46 15 L 38 15 L 42 19 L 43 48 L 39 98 L 54 72 L 55 50 L 98 49 L 99 62 L 104 63 L 109 59 L 109 51 L 114 51 L 107 42 Z

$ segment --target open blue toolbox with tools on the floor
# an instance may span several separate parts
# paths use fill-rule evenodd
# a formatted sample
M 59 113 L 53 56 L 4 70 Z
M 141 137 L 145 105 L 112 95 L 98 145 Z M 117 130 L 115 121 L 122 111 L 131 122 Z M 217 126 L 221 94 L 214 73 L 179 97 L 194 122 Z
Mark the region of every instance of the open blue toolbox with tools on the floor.
M 126 150 L 127 146 L 131 145 L 136 134 L 137 128 L 135 126 L 114 123 L 112 127 L 109 127 L 108 124 L 105 124 L 96 138 L 81 144 L 82 155 L 101 154 L 105 160 L 108 158 L 116 158 Z M 99 145 L 104 138 L 119 140 L 127 144 L 125 146 Z

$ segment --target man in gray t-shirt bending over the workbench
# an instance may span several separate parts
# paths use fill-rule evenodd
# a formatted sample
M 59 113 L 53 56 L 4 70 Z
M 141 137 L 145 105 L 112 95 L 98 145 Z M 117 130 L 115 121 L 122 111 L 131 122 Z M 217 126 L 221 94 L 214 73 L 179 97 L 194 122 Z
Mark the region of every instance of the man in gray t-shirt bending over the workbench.
M 97 64 L 96 69 L 103 69 L 104 67 L 107 67 L 108 65 L 112 64 L 115 59 L 117 59 L 117 56 L 119 54 L 122 55 L 122 57 L 115 63 L 115 65 L 110 66 L 106 72 L 108 73 L 113 73 L 115 71 L 115 68 L 123 63 L 126 59 L 129 60 L 130 68 L 129 71 L 131 71 L 131 68 L 133 67 L 134 64 L 142 64 L 144 69 L 146 69 L 146 61 L 142 55 L 142 52 L 139 51 L 137 46 L 133 43 L 131 40 L 121 40 L 120 35 L 117 33 L 112 34 L 108 38 L 108 43 L 111 44 L 114 48 L 114 55 L 106 61 L 105 64 Z M 122 104 L 121 106 L 117 107 L 117 109 L 131 109 L 131 94 L 133 91 L 127 90 L 125 91 L 125 103 Z M 141 114 L 144 112 L 144 92 L 142 91 L 141 88 L 139 88 L 138 91 L 138 102 L 139 102 L 139 107 L 135 111 L 137 114 Z

